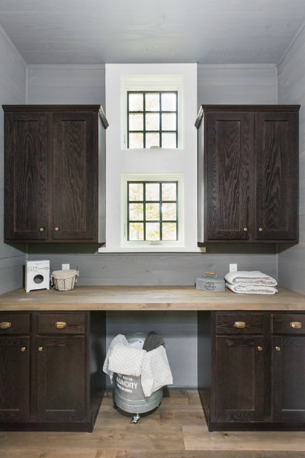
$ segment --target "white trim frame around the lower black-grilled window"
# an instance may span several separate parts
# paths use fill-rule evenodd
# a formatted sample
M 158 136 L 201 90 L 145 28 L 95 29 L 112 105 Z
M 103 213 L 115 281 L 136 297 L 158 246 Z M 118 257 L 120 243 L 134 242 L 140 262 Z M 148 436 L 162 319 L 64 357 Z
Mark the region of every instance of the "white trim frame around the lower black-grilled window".
M 177 181 L 178 182 L 178 240 L 150 243 L 149 240 L 127 240 L 127 182 L 128 181 Z M 183 173 L 126 173 L 121 174 L 121 246 L 178 248 L 184 246 L 184 174 Z

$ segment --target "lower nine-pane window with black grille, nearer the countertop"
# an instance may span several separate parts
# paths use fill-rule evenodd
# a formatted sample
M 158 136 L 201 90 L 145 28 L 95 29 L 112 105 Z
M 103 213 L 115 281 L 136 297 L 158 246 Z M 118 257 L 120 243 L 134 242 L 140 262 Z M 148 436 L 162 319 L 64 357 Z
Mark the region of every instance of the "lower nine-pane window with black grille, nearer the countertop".
M 127 199 L 127 240 L 178 240 L 178 181 L 128 181 Z

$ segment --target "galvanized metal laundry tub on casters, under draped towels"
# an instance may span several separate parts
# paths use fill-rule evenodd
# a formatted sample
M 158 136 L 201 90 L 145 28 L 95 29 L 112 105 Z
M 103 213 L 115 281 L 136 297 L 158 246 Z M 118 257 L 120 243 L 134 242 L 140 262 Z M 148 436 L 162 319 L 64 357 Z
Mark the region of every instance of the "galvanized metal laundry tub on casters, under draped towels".
M 147 334 L 134 333 L 125 337 L 128 344 L 135 348 L 143 348 Z M 133 423 L 139 420 L 139 414 L 149 412 L 158 407 L 163 398 L 163 389 L 159 388 L 150 396 L 145 396 L 141 385 L 141 377 L 114 374 L 114 407 L 125 412 L 136 414 Z

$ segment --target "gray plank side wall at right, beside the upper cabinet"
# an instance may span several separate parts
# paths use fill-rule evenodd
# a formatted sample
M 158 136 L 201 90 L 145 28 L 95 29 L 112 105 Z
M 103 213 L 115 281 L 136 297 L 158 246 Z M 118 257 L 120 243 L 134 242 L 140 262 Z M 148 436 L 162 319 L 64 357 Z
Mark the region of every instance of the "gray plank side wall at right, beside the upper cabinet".
M 305 294 L 305 29 L 278 65 L 278 103 L 300 104 L 300 243 L 279 245 L 281 286 Z

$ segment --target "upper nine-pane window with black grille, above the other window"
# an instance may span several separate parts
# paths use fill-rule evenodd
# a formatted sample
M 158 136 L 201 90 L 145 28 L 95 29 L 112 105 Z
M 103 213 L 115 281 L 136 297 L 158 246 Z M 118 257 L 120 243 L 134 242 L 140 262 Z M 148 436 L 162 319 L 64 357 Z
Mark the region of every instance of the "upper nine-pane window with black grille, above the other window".
M 178 147 L 178 91 L 127 92 L 127 147 Z

